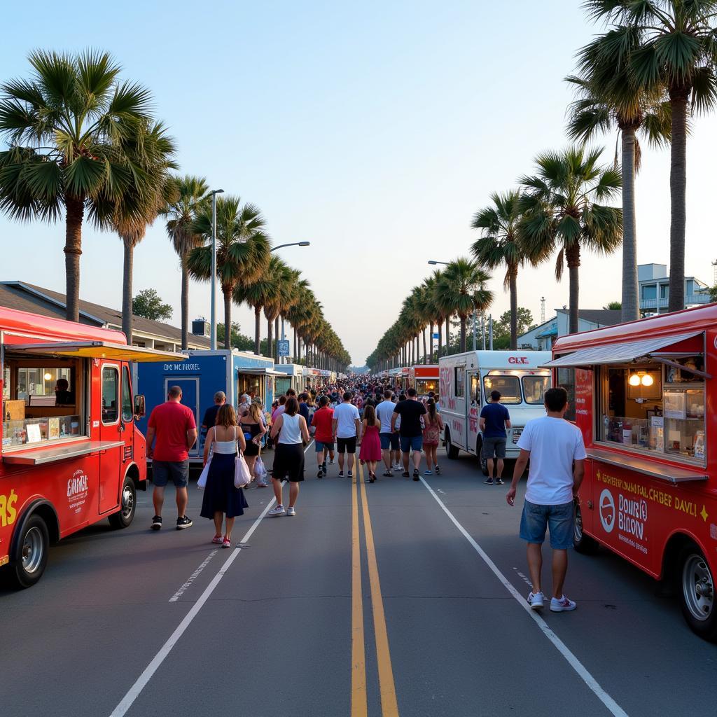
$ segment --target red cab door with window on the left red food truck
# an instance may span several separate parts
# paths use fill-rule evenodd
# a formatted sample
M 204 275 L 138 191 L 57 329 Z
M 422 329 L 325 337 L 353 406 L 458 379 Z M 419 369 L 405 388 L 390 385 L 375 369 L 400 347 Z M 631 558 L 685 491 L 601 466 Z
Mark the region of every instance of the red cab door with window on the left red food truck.
M 124 440 L 120 416 L 120 365 L 103 363 L 100 371 L 100 441 L 118 442 Z M 96 420 L 96 417 L 92 419 Z M 100 453 L 100 513 L 119 505 L 120 480 L 124 478 L 120 475 L 123 450 L 124 446 L 119 445 Z

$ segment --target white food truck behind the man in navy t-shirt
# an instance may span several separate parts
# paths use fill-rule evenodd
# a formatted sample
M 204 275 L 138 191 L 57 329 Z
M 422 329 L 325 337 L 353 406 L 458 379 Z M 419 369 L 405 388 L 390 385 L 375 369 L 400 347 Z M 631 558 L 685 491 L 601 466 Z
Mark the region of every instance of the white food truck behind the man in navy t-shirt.
M 445 423 L 444 443 L 449 458 L 459 450 L 478 456 L 483 435 L 480 409 L 490 402 L 490 392 L 500 391 L 500 403 L 511 414 L 505 457 L 515 459 L 523 427 L 531 418 L 545 414 L 543 396 L 550 387 L 550 351 L 467 351 L 439 359 L 440 407 Z M 488 467 L 480 460 L 488 475 Z

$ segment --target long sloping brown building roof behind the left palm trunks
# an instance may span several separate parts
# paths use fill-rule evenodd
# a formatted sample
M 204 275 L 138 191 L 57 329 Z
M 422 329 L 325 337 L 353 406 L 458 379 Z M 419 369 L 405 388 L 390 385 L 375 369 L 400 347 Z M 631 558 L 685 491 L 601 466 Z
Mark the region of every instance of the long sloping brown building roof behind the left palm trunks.
M 65 294 L 21 281 L 0 282 L 0 305 L 29 311 L 42 316 L 65 318 Z M 80 323 L 94 326 L 122 326 L 122 312 L 80 299 Z M 132 329 L 136 334 L 179 343 L 181 328 L 143 316 L 133 315 Z M 190 334 L 192 346 L 209 348 L 209 338 Z

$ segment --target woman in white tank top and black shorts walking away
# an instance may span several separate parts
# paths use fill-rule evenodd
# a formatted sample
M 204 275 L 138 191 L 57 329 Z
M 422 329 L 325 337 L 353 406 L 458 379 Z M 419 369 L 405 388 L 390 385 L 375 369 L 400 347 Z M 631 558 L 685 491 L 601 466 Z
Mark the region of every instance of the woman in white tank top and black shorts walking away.
M 272 483 L 276 505 L 268 516 L 296 515 L 296 499 L 299 496 L 299 483 L 304 480 L 304 442 L 310 440 L 309 429 L 303 416 L 299 415 L 299 402 L 290 397 L 285 404 L 285 410 L 276 419 L 271 429 L 272 438 L 275 439 L 276 449 L 274 455 L 274 469 L 272 470 Z M 289 508 L 285 510 L 282 500 L 282 480 L 289 479 Z

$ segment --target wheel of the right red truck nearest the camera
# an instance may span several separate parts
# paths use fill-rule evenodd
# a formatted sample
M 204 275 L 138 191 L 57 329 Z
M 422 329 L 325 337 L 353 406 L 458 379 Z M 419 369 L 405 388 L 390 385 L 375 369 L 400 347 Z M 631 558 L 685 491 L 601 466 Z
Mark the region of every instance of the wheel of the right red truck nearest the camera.
M 680 606 L 687 624 L 705 640 L 717 640 L 714 579 L 702 551 L 688 545 L 680 556 Z

